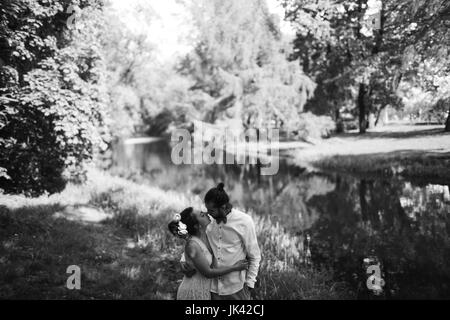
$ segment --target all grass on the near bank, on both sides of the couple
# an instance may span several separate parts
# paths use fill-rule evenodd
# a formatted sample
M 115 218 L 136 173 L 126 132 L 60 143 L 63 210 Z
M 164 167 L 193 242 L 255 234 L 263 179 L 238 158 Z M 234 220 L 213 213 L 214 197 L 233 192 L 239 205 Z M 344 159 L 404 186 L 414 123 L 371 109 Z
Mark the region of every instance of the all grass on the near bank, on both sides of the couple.
M 166 225 L 199 201 L 97 170 L 60 194 L 1 195 L 0 299 L 174 299 L 183 242 Z M 86 207 L 104 219 L 77 219 Z M 354 297 L 331 271 L 304 263 L 301 237 L 254 219 L 263 253 L 256 298 Z M 81 290 L 66 288 L 69 265 L 81 268 Z

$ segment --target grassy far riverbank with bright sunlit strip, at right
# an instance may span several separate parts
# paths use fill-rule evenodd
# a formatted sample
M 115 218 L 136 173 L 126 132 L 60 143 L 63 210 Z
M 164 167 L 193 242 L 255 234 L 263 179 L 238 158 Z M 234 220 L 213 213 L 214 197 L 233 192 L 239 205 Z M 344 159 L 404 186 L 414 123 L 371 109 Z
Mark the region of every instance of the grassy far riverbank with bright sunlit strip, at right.
M 450 133 L 443 126 L 388 126 L 365 135 L 343 134 L 289 155 L 311 170 L 450 179 Z

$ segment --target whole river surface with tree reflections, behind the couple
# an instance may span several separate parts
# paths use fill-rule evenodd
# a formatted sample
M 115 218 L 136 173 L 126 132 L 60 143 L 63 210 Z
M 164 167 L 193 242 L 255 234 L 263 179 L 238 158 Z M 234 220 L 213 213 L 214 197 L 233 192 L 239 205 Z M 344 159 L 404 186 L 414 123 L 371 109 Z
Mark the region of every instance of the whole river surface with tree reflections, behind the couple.
M 303 247 L 313 264 L 332 267 L 359 298 L 373 297 L 365 264 L 372 260 L 380 263 L 382 298 L 450 298 L 448 185 L 308 174 L 286 161 L 277 175 L 260 176 L 249 165 L 175 166 L 165 143 L 122 148 L 132 149 L 117 149 L 117 167 L 164 189 L 203 197 L 226 182 L 235 205 L 310 237 Z

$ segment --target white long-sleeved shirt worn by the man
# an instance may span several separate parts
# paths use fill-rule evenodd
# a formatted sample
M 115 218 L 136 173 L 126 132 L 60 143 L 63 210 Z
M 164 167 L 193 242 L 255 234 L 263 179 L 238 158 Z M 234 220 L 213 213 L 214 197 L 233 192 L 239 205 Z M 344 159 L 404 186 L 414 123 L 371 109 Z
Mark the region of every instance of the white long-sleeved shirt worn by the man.
M 218 295 L 234 294 L 247 284 L 254 288 L 261 262 L 253 219 L 246 213 L 232 209 L 227 223 L 213 219 L 206 229 L 217 265 L 232 266 L 240 260 L 249 261 L 248 270 L 235 271 L 212 280 L 211 291 Z

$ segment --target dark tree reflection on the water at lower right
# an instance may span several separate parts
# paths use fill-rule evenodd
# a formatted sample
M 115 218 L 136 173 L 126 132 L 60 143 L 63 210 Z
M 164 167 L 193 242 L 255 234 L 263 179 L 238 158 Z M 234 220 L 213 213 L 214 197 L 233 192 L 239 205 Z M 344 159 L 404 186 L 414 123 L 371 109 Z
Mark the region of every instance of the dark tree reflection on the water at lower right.
M 308 203 L 320 218 L 311 228 L 313 261 L 367 297 L 360 261 L 383 264 L 388 298 L 450 297 L 448 186 L 330 177 L 336 189 Z

